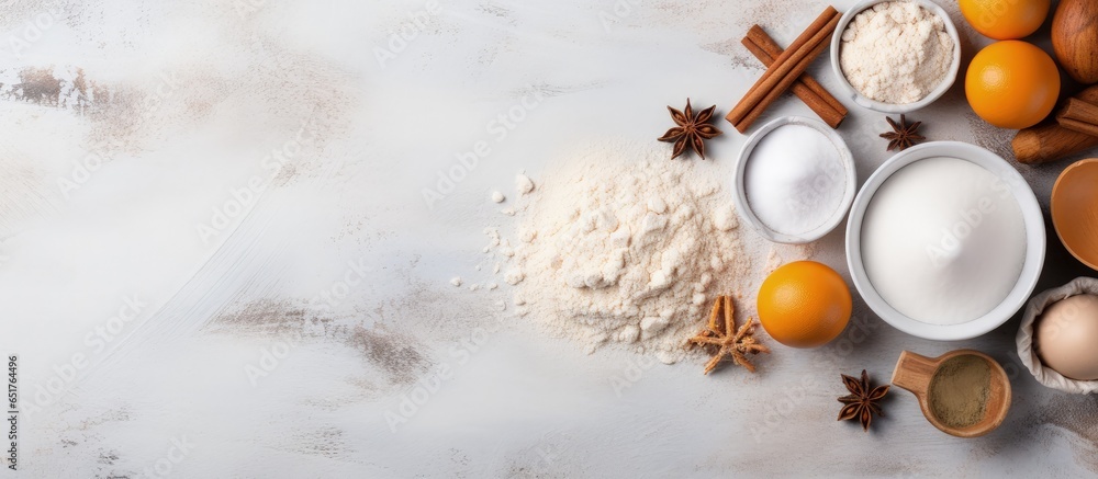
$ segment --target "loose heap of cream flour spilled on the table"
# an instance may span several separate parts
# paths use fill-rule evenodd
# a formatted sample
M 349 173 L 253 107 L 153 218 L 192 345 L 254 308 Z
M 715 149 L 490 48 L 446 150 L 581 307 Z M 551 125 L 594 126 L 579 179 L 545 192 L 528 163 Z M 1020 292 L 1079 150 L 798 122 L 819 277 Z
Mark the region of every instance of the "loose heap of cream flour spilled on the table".
M 526 204 L 504 254 L 515 312 L 589 353 L 683 358 L 708 303 L 751 278 L 731 198 L 701 167 L 616 146 L 571 158 L 536 190 L 519 175 Z

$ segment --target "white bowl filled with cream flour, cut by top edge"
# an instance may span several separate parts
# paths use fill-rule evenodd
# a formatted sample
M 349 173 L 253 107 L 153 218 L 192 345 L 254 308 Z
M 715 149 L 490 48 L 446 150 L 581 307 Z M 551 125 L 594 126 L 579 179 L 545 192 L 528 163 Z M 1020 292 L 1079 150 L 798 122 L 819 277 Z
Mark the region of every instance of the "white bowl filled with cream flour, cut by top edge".
M 953 85 L 961 69 L 961 37 L 932 1 L 866 0 L 839 20 L 831 69 L 844 95 L 858 105 L 914 112 Z

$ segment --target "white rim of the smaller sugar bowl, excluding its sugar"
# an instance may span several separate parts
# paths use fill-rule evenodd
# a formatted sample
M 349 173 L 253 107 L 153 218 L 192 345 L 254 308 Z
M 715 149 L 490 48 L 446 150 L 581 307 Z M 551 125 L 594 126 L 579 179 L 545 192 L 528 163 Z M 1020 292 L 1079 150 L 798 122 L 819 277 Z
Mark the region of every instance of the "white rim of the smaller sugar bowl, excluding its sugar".
M 839 203 L 839 208 L 836 209 L 828 220 L 818 228 L 798 235 L 787 235 L 774 231 L 763 224 L 762 220 L 755 216 L 754 212 L 751 210 L 751 205 L 748 203 L 747 189 L 743 185 L 743 173 L 747 171 L 747 164 L 751 158 L 751 152 L 754 150 L 754 147 L 759 145 L 759 141 L 761 141 L 768 134 L 777 127 L 785 125 L 804 125 L 824 134 L 824 136 L 826 136 L 831 144 L 834 145 L 836 151 L 839 152 L 839 158 L 842 161 L 842 168 L 844 170 L 843 179 L 845 181 L 845 191 L 842 194 L 842 201 Z M 834 227 L 839 226 L 839 223 L 842 223 L 842 218 L 847 217 L 847 210 L 850 209 L 850 204 L 854 201 L 854 193 L 858 191 L 858 176 L 854 170 L 854 159 L 850 155 L 850 149 L 847 148 L 847 142 L 842 140 L 842 137 L 840 137 L 833 128 L 827 126 L 826 123 L 814 118 L 806 118 L 804 116 L 783 116 L 763 125 L 748 138 L 748 141 L 740 150 L 739 158 L 736 160 L 736 175 L 732 179 L 732 190 L 736 192 L 736 209 L 740 212 L 740 216 L 750 223 L 760 235 L 773 242 L 803 244 L 822 238 L 828 232 L 831 232 Z

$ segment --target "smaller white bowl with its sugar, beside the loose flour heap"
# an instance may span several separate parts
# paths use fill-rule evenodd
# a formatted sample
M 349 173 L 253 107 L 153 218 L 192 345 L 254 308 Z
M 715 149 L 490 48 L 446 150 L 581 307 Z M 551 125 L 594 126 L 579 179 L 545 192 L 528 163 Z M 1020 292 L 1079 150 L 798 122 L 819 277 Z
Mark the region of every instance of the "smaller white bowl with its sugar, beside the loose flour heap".
M 736 208 L 764 238 L 816 241 L 833 230 L 858 190 L 854 160 L 824 122 L 783 116 L 751 135 L 736 162 Z

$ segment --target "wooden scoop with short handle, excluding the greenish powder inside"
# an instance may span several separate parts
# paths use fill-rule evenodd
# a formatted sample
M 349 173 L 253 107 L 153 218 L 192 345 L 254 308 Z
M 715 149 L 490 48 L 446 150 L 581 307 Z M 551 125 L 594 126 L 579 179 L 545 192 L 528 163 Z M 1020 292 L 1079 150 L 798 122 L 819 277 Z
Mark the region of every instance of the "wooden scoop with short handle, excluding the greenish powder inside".
M 978 356 L 987 361 L 987 365 L 991 369 L 991 383 L 990 392 L 987 396 L 987 407 L 984 408 L 984 418 L 971 426 L 959 429 L 946 425 L 934 415 L 934 411 L 930 408 L 927 390 L 942 363 L 963 355 Z M 1010 380 L 1007 379 L 1007 373 L 1002 370 L 1002 366 L 997 361 L 979 351 L 950 351 L 934 358 L 904 351 L 899 354 L 896 370 L 893 372 L 893 384 L 911 391 L 919 399 L 922 415 L 926 415 L 934 427 L 957 437 L 977 437 L 994 431 L 999 424 L 1002 424 L 1002 420 L 1007 418 L 1007 411 L 1010 410 Z

